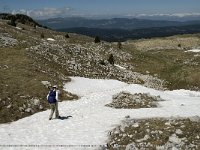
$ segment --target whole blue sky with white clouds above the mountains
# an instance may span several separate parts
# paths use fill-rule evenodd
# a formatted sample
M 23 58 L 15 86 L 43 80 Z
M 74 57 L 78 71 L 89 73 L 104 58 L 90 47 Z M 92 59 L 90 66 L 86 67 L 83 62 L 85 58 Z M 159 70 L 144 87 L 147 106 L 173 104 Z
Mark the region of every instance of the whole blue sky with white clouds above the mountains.
M 200 15 L 200 0 L 0 0 L 0 12 L 33 18 Z

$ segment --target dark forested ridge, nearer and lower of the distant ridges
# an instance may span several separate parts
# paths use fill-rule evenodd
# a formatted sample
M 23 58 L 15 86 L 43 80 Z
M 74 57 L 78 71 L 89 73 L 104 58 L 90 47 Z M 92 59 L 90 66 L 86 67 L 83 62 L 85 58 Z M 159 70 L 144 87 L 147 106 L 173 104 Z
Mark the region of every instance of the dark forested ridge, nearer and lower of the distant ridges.
M 167 37 L 177 34 L 200 33 L 200 24 L 187 26 L 153 27 L 144 29 L 100 29 L 100 28 L 66 28 L 59 31 L 83 34 L 91 37 L 99 36 L 102 40 L 115 42 L 129 39 Z

